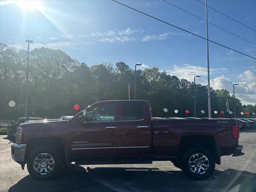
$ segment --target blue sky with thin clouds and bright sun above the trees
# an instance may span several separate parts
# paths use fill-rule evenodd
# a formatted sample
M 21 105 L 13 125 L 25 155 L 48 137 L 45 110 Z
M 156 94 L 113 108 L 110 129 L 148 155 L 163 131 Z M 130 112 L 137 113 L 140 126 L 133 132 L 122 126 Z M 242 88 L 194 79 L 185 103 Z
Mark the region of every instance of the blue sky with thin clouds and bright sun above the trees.
M 195 0 L 169 1 L 205 18 L 204 5 Z M 201 1 L 204 2 L 204 1 Z M 26 2 L 25 2 L 26 3 Z M 138 10 L 170 22 L 200 36 L 206 36 L 206 24 L 163 1 L 122 1 Z M 115 2 L 41 1 L 35 9 L 26 9 L 11 1 L 1 1 L 0 41 L 26 49 L 45 46 L 64 50 L 88 66 L 123 61 L 132 68 L 136 62 L 157 66 L 180 78 L 207 84 L 206 41 Z M 211 6 L 256 29 L 256 1 L 213 1 Z M 23 7 L 23 8 L 22 8 Z M 256 32 L 208 9 L 208 20 L 256 43 Z M 209 39 L 256 57 L 256 45 L 209 24 Z M 213 88 L 230 92 L 232 83 L 243 104 L 256 104 L 256 60 L 209 43 L 210 79 Z

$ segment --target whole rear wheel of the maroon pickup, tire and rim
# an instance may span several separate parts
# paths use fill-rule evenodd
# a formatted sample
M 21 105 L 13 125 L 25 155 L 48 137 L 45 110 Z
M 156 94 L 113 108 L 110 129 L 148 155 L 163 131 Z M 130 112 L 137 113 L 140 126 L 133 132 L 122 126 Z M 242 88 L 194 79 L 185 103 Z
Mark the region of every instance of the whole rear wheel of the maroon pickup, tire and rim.
M 182 158 L 182 170 L 193 180 L 209 178 L 215 169 L 214 157 L 210 150 L 200 146 L 189 148 Z

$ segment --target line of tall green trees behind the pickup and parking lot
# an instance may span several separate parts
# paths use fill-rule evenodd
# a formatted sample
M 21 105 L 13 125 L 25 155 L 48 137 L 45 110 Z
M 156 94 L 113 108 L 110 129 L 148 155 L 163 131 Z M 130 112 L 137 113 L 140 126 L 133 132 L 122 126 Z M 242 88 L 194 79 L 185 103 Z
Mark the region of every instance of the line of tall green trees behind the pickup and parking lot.
M 80 109 L 100 100 L 128 100 L 134 98 L 134 69 L 124 62 L 103 62 L 89 67 L 62 50 L 36 48 L 30 52 L 28 83 L 28 114 L 42 118 L 74 115 L 74 105 Z M 27 51 L 0 43 L 0 118 L 24 116 Z M 208 87 L 171 76 L 158 68 L 136 71 L 136 98 L 148 100 L 152 116 L 193 116 L 194 86 L 196 87 L 196 116 L 208 117 Z M 234 98 L 227 90 L 211 91 L 212 116 L 233 117 L 226 110 L 229 100 L 234 112 Z M 10 108 L 8 102 L 16 106 Z M 236 116 L 240 112 L 256 112 L 256 105 L 242 105 L 236 100 Z M 167 108 L 168 112 L 163 109 Z M 179 111 L 178 114 L 174 110 Z M 190 114 L 185 111 L 189 110 Z M 202 114 L 201 110 L 205 113 Z M 214 114 L 214 110 L 218 114 Z M 222 115 L 220 111 L 225 113 Z M 245 115 L 243 115 L 245 116 Z M 249 117 L 249 116 L 248 116 Z

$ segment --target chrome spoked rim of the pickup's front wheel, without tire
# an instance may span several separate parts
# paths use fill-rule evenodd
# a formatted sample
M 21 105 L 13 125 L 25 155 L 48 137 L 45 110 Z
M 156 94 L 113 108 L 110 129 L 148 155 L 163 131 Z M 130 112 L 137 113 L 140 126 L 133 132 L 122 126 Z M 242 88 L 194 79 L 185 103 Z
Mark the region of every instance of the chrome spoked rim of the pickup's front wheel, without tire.
M 33 161 L 34 170 L 41 175 L 46 175 L 52 172 L 54 164 L 54 158 L 48 153 L 39 154 Z

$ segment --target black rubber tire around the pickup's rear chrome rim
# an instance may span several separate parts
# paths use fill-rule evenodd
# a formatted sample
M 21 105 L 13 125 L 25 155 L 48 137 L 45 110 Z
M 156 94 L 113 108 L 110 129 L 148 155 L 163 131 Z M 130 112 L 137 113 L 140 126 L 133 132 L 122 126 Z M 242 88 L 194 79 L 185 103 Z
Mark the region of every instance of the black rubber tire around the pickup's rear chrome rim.
M 205 164 L 208 165 L 208 167 L 206 168 L 206 166 L 202 166 L 202 168 L 206 169 L 205 171 L 202 170 L 200 167 L 198 168 L 197 164 L 195 164 L 194 167 L 192 167 L 191 169 L 195 170 L 195 168 L 197 169 L 197 171 L 199 170 L 199 173 L 194 173 L 191 169 L 190 169 L 190 165 L 189 165 L 189 160 L 194 160 L 194 158 L 192 157 L 194 154 L 199 154 L 199 157 L 202 157 L 201 154 L 203 154 L 208 160 L 206 160 L 204 157 L 202 157 L 202 160 L 205 160 Z M 196 157 L 196 156 L 195 156 Z M 190 159 L 192 158 L 192 159 Z M 196 158 L 198 160 L 198 158 Z M 200 165 L 200 162 L 198 162 Z M 208 148 L 204 148 L 201 146 L 193 146 L 188 148 L 187 150 L 185 150 L 185 153 L 182 157 L 182 171 L 184 171 L 184 173 L 191 179 L 193 180 L 206 180 L 207 178 L 209 178 L 215 169 L 215 161 L 214 161 L 214 156 L 212 155 L 210 149 Z

